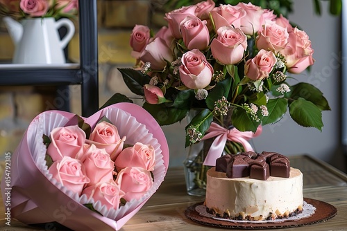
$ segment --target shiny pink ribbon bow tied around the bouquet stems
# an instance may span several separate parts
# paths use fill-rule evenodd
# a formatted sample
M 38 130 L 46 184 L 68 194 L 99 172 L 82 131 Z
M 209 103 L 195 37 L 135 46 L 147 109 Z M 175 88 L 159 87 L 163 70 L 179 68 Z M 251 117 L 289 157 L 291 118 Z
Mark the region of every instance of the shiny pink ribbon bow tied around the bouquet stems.
M 208 133 L 203 136 L 202 140 L 208 140 L 210 138 L 216 137 L 212 142 L 208 155 L 203 162 L 203 165 L 214 166 L 216 165 L 216 160 L 223 153 L 224 146 L 226 145 L 226 140 L 239 142 L 244 147 L 245 151 L 253 151 L 251 144 L 247 141 L 253 137 L 259 136 L 262 133 L 262 126 L 257 128 L 257 131 L 253 133 L 252 131 L 239 131 L 235 127 L 232 129 L 226 129 L 221 127 L 219 124 L 212 122 Z

